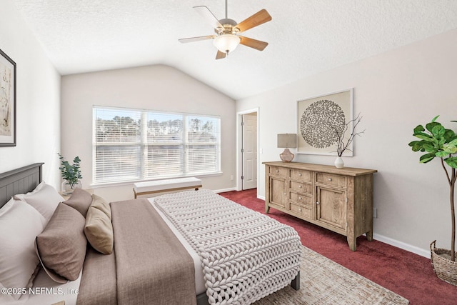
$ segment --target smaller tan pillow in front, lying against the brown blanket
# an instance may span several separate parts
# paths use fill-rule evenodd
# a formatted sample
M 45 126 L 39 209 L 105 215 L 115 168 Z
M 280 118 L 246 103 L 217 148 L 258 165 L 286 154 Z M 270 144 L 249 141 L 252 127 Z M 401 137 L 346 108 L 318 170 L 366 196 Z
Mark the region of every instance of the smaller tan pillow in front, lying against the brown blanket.
M 113 224 L 111 224 L 111 208 L 108 202 L 97 195 L 92 195 L 92 204 L 86 215 L 84 234 L 96 251 L 102 254 L 113 253 Z

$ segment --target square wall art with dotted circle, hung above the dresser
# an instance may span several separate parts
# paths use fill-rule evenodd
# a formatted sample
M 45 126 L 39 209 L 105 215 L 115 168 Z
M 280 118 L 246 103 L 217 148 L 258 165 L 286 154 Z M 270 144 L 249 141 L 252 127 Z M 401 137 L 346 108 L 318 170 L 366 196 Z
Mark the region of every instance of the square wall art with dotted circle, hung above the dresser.
M 297 101 L 297 153 L 337 156 L 336 139 L 353 125 L 353 88 Z M 353 156 L 353 143 L 343 156 Z

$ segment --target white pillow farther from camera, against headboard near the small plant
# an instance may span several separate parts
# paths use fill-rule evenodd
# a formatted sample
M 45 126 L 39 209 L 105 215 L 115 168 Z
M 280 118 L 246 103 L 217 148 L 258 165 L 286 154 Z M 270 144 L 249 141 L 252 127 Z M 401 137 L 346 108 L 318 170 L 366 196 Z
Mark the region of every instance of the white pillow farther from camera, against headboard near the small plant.
M 61 201 L 65 199 L 54 189 L 54 187 L 42 181 L 34 191 L 27 194 L 19 194 L 14 196 L 14 199 L 26 201 L 27 204 L 33 206 L 46 219 L 46 224 L 51 219 L 52 214 L 56 210 Z

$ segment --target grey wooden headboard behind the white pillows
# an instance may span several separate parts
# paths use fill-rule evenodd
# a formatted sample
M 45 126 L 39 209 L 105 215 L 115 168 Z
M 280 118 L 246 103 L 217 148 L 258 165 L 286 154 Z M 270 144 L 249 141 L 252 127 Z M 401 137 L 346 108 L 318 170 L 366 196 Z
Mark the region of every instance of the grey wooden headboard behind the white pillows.
M 0 208 L 16 194 L 33 191 L 41 182 L 44 163 L 35 163 L 0 174 Z

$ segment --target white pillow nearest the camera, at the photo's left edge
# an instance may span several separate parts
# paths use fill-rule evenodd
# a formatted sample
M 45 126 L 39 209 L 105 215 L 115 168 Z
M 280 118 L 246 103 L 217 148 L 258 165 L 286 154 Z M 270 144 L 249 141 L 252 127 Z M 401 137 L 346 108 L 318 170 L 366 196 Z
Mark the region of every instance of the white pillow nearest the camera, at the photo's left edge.
M 6 288 L 25 288 L 39 264 L 34 242 L 46 219 L 24 201 L 10 201 L 7 211 L 2 211 L 5 206 L 0 209 L 0 282 Z

